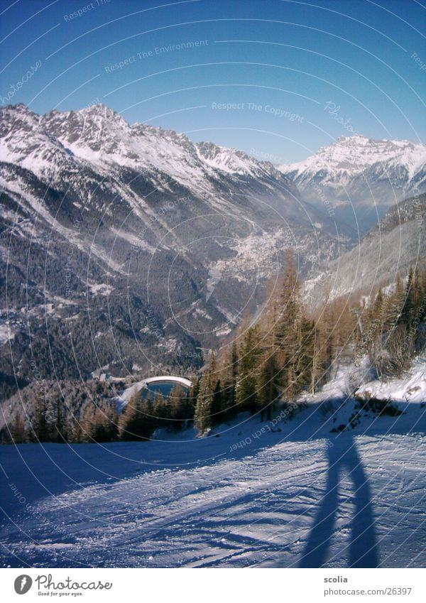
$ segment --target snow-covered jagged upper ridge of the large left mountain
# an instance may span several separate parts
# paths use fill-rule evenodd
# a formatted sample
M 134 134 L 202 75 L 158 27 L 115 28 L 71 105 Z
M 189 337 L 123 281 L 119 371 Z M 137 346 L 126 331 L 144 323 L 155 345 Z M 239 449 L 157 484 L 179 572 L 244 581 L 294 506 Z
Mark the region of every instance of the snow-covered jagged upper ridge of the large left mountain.
M 168 188 L 172 178 L 197 194 L 217 195 L 217 187 L 229 190 L 224 180 L 241 177 L 278 180 L 280 186 L 292 188 L 271 163 L 233 148 L 193 143 L 173 130 L 130 125 L 103 104 L 44 116 L 16 105 L 0 109 L 0 117 L 0 160 L 21 165 L 44 180 L 72 161 L 76 170 L 89 164 L 103 176 L 117 175 L 123 168 L 144 173 L 159 188 Z

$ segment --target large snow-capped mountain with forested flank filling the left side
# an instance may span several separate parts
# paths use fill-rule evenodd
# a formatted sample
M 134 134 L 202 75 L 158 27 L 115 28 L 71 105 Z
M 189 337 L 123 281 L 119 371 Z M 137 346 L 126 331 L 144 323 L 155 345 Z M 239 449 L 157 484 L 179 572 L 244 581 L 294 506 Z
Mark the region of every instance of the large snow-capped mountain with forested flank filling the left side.
M 352 244 L 271 163 L 103 105 L 2 107 L 0 187 L 12 389 L 34 355 L 60 379 L 200 366 L 261 305 L 286 247 L 306 276 Z

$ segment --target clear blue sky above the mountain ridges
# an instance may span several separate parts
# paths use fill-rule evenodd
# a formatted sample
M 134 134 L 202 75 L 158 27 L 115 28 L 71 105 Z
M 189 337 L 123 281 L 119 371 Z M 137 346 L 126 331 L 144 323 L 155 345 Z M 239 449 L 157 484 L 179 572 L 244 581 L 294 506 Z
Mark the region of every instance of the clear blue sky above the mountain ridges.
M 275 163 L 354 132 L 426 141 L 415 0 L 7 0 L 0 11 L 1 104 L 103 102 Z

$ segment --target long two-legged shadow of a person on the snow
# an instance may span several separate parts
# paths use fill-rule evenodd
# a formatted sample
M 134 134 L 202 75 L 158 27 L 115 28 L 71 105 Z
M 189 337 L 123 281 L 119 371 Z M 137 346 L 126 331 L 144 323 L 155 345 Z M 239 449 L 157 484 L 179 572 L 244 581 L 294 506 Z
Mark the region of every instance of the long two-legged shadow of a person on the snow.
M 354 484 L 355 512 L 351 521 L 349 567 L 377 567 L 378 546 L 371 506 L 370 487 L 356 450 L 354 438 L 341 433 L 328 440 L 327 485 L 320 509 L 307 539 L 299 567 L 322 567 L 327 563 L 334 523 L 339 510 L 339 481 L 346 469 Z

